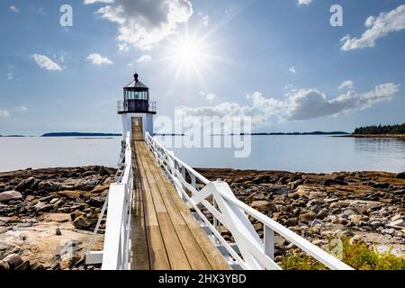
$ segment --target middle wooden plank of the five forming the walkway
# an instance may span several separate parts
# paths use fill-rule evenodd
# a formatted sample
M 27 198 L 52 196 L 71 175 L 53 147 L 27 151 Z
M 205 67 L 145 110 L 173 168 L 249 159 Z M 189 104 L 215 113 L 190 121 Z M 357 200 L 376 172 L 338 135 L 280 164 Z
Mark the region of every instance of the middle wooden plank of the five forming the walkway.
M 139 164 L 142 166 L 142 182 L 148 183 L 149 193 L 151 194 L 150 200 L 153 201 L 155 211 L 157 212 L 157 221 L 165 243 L 170 266 L 173 270 L 190 270 L 191 266 L 185 256 L 181 242 L 175 233 L 173 223 L 166 211 L 166 206 L 160 195 L 156 180 L 150 173 L 150 170 L 148 170 L 148 161 L 150 161 L 150 159 L 145 155 L 148 151 L 142 148 L 145 143 L 138 142 L 135 145 L 137 146 L 137 151 L 139 151 Z

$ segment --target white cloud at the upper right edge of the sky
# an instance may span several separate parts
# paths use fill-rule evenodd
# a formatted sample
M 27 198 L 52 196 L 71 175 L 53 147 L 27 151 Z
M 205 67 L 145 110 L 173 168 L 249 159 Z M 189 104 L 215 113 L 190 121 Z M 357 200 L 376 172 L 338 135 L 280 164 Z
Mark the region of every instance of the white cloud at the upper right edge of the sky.
M 382 13 L 377 18 L 370 16 L 365 21 L 368 28 L 360 38 L 349 35 L 342 38 L 342 50 L 372 48 L 375 41 L 390 33 L 405 29 L 405 4 L 401 4 L 390 13 Z

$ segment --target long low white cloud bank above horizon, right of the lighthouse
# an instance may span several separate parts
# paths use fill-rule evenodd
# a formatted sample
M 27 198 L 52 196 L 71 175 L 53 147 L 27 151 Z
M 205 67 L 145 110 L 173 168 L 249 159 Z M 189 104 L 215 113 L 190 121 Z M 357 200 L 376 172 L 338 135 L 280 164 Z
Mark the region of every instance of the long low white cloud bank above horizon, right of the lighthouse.
M 399 91 L 399 85 L 387 83 L 375 86 L 374 90 L 359 94 L 348 91 L 329 100 L 326 94 L 316 89 L 296 90 L 284 100 L 266 98 L 256 92 L 247 95 L 249 104 L 219 103 L 215 106 L 191 108 L 179 107 L 184 116 L 250 116 L 254 126 L 259 127 L 276 121 L 306 121 L 320 117 L 334 116 L 344 112 L 364 110 L 375 103 L 389 101 Z

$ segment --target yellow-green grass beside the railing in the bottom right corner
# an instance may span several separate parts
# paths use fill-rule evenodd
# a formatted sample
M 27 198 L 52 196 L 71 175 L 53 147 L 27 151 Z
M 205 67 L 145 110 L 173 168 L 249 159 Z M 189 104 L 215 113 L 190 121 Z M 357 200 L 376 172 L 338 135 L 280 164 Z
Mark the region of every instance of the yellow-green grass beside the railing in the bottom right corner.
M 351 244 L 348 238 L 342 238 L 342 244 L 342 261 L 356 270 L 405 270 L 405 259 L 393 255 L 392 250 L 380 253 L 367 247 L 364 243 Z M 302 252 L 284 256 L 280 265 L 284 270 L 327 269 L 320 262 Z

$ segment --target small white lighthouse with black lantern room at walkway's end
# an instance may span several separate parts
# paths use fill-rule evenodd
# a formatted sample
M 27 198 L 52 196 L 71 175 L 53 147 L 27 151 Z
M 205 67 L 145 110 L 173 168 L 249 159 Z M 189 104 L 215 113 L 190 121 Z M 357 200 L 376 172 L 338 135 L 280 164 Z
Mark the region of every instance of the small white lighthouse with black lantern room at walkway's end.
M 123 101 L 118 102 L 123 138 L 128 132 L 133 141 L 143 141 L 146 132 L 153 136 L 156 112 L 156 102 L 150 101 L 148 86 L 139 81 L 138 73 L 135 74 L 134 80 L 123 88 Z

